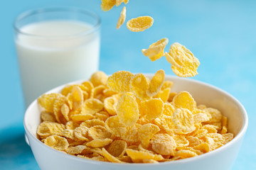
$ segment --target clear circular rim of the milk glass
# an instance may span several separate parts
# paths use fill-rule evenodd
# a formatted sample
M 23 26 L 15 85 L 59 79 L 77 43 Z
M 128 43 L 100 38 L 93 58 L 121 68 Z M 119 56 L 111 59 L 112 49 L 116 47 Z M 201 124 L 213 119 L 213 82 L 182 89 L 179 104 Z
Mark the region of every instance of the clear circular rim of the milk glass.
M 23 18 L 26 18 L 28 16 L 36 15 L 38 13 L 48 13 L 53 11 L 68 11 L 73 13 L 82 13 L 87 16 L 92 16 L 92 18 L 96 19 L 96 23 L 92 25 L 92 28 L 89 30 L 82 31 L 80 33 L 70 34 L 70 35 L 37 35 L 33 33 L 26 33 L 23 32 L 20 28 L 18 28 L 17 24 L 18 21 L 21 21 Z M 28 11 L 25 11 L 21 14 L 19 14 L 16 19 L 14 20 L 13 27 L 16 33 L 20 33 L 22 35 L 37 37 L 37 38 L 68 38 L 68 37 L 76 37 L 79 35 L 89 35 L 90 33 L 94 33 L 98 28 L 100 28 L 101 20 L 100 17 L 97 16 L 96 13 L 92 11 L 88 11 L 83 8 L 76 8 L 76 7 L 45 7 L 45 8 L 35 8 Z

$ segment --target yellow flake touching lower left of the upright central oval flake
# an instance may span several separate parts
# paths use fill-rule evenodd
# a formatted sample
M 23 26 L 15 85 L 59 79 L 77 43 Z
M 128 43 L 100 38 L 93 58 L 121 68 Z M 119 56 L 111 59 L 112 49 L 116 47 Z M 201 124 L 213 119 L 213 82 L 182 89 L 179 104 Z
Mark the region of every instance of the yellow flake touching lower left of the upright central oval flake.
M 122 134 L 127 132 L 127 128 L 122 125 L 117 115 L 107 118 L 105 123 L 105 127 L 112 133 L 112 135 L 121 137 Z

